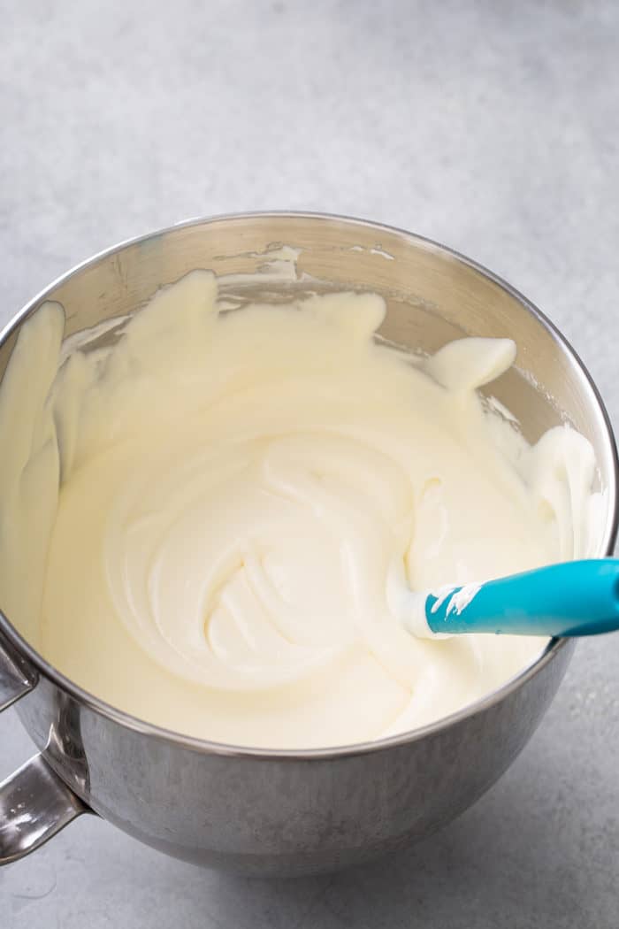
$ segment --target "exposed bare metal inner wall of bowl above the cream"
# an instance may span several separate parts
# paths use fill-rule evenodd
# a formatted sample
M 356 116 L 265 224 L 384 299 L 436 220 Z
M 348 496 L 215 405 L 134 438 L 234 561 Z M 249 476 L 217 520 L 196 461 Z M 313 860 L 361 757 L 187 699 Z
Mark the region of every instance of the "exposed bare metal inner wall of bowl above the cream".
M 272 273 L 270 255 L 283 244 L 298 250 L 294 276 Z M 433 352 L 467 334 L 513 338 L 516 368 L 493 384 L 493 395 L 530 441 L 550 425 L 570 422 L 595 448 L 601 485 L 613 484 L 612 441 L 600 399 L 551 324 L 522 294 L 469 259 L 397 229 L 295 214 L 198 220 L 86 262 L 45 298 L 65 307 L 71 335 L 134 312 L 161 285 L 193 268 L 213 269 L 223 278 L 222 292 L 241 301 L 316 290 L 375 291 L 389 308 L 381 334 L 415 350 Z M 0 347 L 0 373 L 11 342 Z

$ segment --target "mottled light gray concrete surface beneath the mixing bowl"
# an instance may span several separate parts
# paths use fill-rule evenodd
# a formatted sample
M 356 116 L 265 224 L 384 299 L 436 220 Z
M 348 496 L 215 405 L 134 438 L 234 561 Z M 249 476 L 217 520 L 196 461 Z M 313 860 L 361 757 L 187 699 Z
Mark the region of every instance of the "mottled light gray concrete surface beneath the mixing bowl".
M 183 217 L 367 216 L 530 295 L 619 423 L 613 0 L 0 0 L 0 22 L 2 321 Z M 4 714 L 0 775 L 29 752 Z M 616 929 L 618 877 L 619 635 L 579 647 L 517 763 L 426 844 L 260 883 L 87 819 L 0 873 L 0 925 Z

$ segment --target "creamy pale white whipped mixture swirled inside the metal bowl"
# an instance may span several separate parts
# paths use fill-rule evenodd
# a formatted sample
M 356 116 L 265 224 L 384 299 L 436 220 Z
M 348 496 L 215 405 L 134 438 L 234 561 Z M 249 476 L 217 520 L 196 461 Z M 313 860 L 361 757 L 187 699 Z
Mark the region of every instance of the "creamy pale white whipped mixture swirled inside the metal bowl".
M 414 359 L 375 341 L 376 295 L 216 298 L 194 271 L 89 352 L 63 351 L 56 304 L 22 328 L 0 389 L 12 622 L 114 706 L 272 748 L 421 726 L 533 661 L 540 639 L 424 640 L 394 608 L 597 554 L 587 440 L 530 447 L 476 393 L 513 343 Z

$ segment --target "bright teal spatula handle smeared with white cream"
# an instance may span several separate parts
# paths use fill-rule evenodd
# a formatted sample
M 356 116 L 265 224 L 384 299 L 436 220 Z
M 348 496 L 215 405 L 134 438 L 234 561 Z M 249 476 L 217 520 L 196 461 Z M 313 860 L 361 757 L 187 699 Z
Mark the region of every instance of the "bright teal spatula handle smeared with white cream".
M 458 601 L 459 594 L 459 601 Z M 469 602 L 467 602 L 469 601 Z M 428 595 L 433 633 L 599 635 L 619 629 L 619 559 L 568 561 Z

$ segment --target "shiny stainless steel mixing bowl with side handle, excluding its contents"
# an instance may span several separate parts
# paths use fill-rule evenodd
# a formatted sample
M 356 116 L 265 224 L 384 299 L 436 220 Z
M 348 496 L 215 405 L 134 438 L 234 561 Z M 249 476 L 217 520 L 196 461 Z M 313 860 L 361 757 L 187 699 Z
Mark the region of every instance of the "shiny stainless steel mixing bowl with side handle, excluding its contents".
M 300 250 L 288 275 L 274 274 L 269 263 L 278 243 Z M 65 307 L 71 335 L 134 312 L 192 268 L 226 276 L 222 289 L 239 304 L 308 290 L 378 292 L 388 303 L 381 334 L 415 349 L 432 352 L 462 334 L 514 338 L 518 368 L 492 393 L 531 440 L 567 418 L 592 442 L 606 491 L 597 554 L 611 553 L 616 452 L 583 365 L 508 284 L 397 229 L 264 214 L 195 220 L 123 243 L 18 314 L 0 340 L 0 376 L 19 327 L 45 299 Z M 166 732 L 106 705 L 59 674 L 29 644 L 28 631 L 9 621 L 0 615 L 0 709 L 19 700 L 40 753 L 0 785 L 3 862 L 92 811 L 169 855 L 258 875 L 330 870 L 377 856 L 428 835 L 496 781 L 535 730 L 573 650 L 553 641 L 505 687 L 412 733 L 342 749 L 267 752 Z

